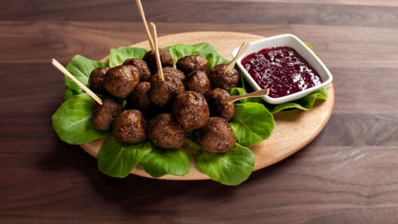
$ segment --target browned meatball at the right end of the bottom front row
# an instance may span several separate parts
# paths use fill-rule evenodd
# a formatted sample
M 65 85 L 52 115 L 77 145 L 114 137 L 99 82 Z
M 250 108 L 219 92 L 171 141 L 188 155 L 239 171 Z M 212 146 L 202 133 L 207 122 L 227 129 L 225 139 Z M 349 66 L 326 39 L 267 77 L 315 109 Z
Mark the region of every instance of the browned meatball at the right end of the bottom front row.
M 202 149 L 211 153 L 224 153 L 236 142 L 231 125 L 220 117 L 210 118 L 206 126 L 196 133 L 196 140 Z

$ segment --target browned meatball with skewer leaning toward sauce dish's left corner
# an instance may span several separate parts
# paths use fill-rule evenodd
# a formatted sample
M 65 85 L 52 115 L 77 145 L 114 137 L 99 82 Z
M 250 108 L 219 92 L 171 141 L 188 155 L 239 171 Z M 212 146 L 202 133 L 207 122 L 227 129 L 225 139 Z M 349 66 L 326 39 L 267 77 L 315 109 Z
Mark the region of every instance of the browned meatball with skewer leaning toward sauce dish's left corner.
M 229 73 L 224 74 L 225 68 L 228 64 L 219 64 L 211 68 L 209 79 L 211 87 L 229 89 L 238 86 L 239 73 L 235 68 L 232 68 Z

